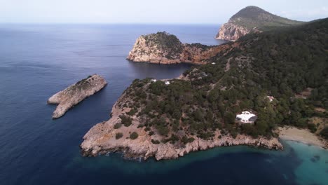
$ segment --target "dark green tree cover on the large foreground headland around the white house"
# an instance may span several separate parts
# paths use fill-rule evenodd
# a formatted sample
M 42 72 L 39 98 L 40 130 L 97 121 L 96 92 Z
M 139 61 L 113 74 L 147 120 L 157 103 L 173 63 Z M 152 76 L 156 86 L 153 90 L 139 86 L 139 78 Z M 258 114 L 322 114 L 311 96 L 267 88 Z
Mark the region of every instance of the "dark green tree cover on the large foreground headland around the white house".
M 315 111 L 328 109 L 327 61 L 328 19 L 250 34 L 226 55 L 184 72 L 184 80 L 172 79 L 170 85 L 149 78 L 133 81 L 118 104 L 134 110 L 121 116 L 122 124 L 135 115 L 149 135 L 155 132 L 165 138 L 160 142 L 179 144 L 213 139 L 215 130 L 232 137 L 274 137 L 278 125 L 315 130 L 308 118 L 327 116 Z M 310 97 L 295 97 L 307 88 Z M 269 102 L 268 95 L 275 101 Z M 235 122 L 235 114 L 245 110 L 257 114 L 254 125 Z

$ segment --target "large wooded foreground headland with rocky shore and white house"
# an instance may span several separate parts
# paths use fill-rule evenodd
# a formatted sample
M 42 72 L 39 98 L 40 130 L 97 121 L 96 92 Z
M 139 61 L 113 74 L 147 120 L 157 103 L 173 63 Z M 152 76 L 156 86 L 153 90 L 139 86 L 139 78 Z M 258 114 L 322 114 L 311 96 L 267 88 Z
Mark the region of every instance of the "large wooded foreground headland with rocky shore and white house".
M 83 156 L 162 160 L 216 146 L 283 149 L 275 130 L 284 126 L 328 139 L 328 19 L 250 34 L 225 47 L 179 78 L 135 79 L 109 121 L 83 137 Z M 237 119 L 248 113 L 256 119 Z

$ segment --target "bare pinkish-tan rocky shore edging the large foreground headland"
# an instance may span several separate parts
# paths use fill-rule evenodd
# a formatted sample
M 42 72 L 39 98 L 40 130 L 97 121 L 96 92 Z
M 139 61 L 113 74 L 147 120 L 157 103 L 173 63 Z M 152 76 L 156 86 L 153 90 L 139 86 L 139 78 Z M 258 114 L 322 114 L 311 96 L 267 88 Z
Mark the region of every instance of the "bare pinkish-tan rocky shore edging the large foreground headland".
M 148 85 L 154 83 L 148 81 Z M 224 133 L 222 130 L 216 130 L 212 139 L 202 139 L 196 135 L 186 133 L 187 128 L 172 134 L 170 139 L 168 135 L 161 133 L 158 129 L 144 128 L 148 124 L 144 117 L 128 116 L 132 111 L 127 104 L 137 104 L 128 95 L 129 90 L 114 104 L 109 121 L 104 121 L 93 126 L 83 137 L 81 152 L 83 156 L 97 156 L 109 152 L 120 152 L 128 158 L 150 157 L 156 160 L 175 159 L 190 153 L 191 151 L 200 151 L 211 149 L 217 146 L 247 145 L 254 147 L 264 147 L 266 149 L 283 149 L 282 144 L 277 138 L 271 137 L 253 137 L 238 134 L 232 136 Z M 142 111 L 140 108 L 136 112 Z M 175 139 L 172 139 L 175 138 Z M 181 140 L 182 142 L 179 142 Z

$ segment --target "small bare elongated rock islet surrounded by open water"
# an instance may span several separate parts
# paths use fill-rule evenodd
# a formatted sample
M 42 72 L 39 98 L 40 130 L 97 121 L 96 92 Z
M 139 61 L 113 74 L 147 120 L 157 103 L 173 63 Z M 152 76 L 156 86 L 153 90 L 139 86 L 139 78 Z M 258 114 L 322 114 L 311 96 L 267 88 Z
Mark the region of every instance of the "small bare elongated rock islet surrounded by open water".
M 71 107 L 74 107 L 74 105 L 78 104 L 86 97 L 97 93 L 104 88 L 105 85 L 107 85 L 107 82 L 104 78 L 94 74 L 56 93 L 48 100 L 48 104 L 58 104 L 53 112 L 53 118 L 60 118 Z

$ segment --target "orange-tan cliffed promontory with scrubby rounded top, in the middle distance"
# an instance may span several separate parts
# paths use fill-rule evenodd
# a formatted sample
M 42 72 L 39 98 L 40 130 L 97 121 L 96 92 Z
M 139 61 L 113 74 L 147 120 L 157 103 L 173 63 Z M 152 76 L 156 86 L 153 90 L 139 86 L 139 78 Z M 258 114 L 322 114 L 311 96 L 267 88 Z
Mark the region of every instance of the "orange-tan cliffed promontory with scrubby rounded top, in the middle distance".
M 200 43 L 181 43 L 166 32 L 139 36 L 127 59 L 133 62 L 205 64 L 210 57 L 224 53 L 231 46 L 205 46 Z

